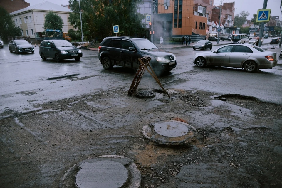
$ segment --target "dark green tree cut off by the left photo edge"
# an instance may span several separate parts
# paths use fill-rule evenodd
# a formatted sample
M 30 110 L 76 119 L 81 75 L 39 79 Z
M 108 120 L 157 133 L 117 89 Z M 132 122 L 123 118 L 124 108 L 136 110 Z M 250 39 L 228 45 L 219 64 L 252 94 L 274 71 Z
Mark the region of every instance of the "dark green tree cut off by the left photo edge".
M 8 36 L 22 36 L 21 29 L 16 27 L 13 17 L 3 7 L 0 7 L 0 36 L 4 41 Z

